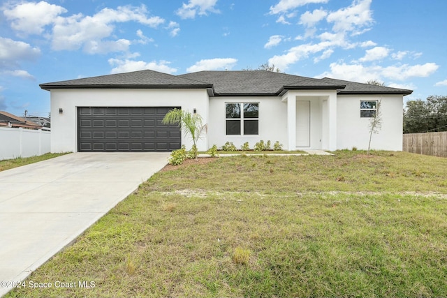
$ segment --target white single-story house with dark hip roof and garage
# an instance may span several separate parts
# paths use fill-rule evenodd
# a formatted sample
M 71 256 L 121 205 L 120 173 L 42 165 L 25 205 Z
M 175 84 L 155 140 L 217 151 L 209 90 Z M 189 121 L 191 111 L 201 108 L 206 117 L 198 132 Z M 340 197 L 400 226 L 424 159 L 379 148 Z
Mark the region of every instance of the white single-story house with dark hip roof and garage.
M 51 151 L 172 151 L 192 142 L 161 124 L 174 107 L 198 113 L 205 151 L 233 142 L 253 148 L 279 141 L 286 150 L 367 149 L 377 107 L 381 130 L 372 149 L 402 150 L 407 89 L 265 70 L 199 71 L 169 75 L 140 70 L 51 82 Z

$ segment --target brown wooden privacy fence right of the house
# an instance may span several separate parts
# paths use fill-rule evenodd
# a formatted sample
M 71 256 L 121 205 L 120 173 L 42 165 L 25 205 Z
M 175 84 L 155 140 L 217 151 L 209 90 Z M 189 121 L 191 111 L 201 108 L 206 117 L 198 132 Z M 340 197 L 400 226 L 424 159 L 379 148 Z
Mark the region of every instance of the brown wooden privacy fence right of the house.
M 447 157 L 447 131 L 441 133 L 406 133 L 402 150 L 439 157 Z

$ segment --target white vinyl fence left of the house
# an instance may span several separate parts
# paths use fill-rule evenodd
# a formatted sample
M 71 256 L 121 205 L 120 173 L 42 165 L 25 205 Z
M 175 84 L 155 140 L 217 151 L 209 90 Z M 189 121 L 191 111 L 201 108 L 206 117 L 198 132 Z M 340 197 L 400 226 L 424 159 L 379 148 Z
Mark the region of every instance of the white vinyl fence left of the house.
M 50 135 L 49 131 L 0 128 L 0 161 L 50 152 Z

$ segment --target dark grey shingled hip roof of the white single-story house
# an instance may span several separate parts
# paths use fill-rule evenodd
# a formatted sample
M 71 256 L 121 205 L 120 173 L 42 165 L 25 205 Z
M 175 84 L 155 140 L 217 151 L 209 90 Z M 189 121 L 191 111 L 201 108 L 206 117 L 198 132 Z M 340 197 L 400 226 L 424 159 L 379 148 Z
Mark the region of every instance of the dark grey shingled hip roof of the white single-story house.
M 411 94 L 411 90 L 267 70 L 199 71 L 168 75 L 154 70 L 51 82 L 42 89 L 207 89 L 210 96 L 281 96 L 287 90 L 337 89 L 339 94 Z

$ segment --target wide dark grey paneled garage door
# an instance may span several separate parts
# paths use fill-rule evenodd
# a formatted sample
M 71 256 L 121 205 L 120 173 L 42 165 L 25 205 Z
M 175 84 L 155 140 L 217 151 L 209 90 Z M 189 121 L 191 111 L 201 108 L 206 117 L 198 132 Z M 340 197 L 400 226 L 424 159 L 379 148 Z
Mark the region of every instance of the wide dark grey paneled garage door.
M 182 144 L 179 127 L 161 124 L 173 108 L 78 107 L 78 151 L 179 149 Z

